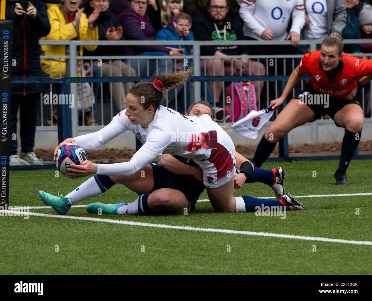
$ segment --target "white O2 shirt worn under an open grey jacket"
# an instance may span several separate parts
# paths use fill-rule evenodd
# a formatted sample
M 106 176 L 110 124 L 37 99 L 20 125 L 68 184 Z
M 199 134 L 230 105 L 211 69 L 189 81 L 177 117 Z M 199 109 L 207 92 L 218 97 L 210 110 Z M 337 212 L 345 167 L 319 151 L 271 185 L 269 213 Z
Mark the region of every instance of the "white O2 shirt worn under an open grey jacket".
M 307 0 L 307 16 L 310 19 L 308 38 L 323 40 L 328 36 L 327 0 Z

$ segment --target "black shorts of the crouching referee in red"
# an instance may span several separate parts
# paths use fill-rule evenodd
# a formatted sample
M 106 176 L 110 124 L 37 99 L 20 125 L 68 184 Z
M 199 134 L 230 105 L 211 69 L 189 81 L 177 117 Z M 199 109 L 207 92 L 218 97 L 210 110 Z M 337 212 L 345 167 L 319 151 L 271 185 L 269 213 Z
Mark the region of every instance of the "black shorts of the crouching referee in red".
M 304 95 L 305 92 L 309 92 L 307 93 L 308 95 L 312 94 L 312 95 L 319 95 L 320 93 L 315 90 L 310 81 L 308 81 L 305 86 L 304 86 L 304 90 L 302 90 L 298 95 L 297 95 L 297 99 L 300 99 L 300 94 Z M 335 98 L 335 97 L 330 97 L 329 98 L 329 106 L 328 108 L 325 108 L 324 105 L 320 105 L 320 104 L 306 104 L 310 109 L 312 109 L 312 111 L 314 112 L 315 116 L 314 116 L 314 119 L 310 122 L 314 122 L 315 120 L 317 120 L 318 118 L 320 118 L 321 116 L 324 116 L 324 115 L 329 115 L 332 120 L 334 121 L 334 115 L 340 111 L 344 106 L 346 105 L 349 105 L 350 103 L 355 103 L 356 105 L 359 105 L 360 107 L 362 107 L 362 104 L 360 103 L 360 100 L 359 100 L 359 95 L 357 94 L 356 97 L 354 97 L 352 100 L 346 100 L 346 99 L 342 99 L 342 98 Z M 336 121 L 334 121 L 334 124 L 337 125 L 337 127 L 340 127 Z

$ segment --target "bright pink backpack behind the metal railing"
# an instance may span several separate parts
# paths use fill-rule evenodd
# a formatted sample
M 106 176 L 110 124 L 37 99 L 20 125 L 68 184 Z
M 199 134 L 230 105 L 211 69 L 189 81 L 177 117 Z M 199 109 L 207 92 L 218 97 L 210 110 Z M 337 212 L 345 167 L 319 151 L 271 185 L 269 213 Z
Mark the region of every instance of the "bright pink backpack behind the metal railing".
M 243 89 L 242 89 L 243 88 Z M 234 81 L 234 98 L 232 97 L 232 84 L 227 89 L 227 97 L 225 100 L 225 121 L 232 122 L 232 102 L 234 101 L 234 122 L 244 118 L 252 111 L 258 111 L 256 93 L 254 86 L 249 81 L 240 82 Z M 243 111 L 242 111 L 243 107 Z

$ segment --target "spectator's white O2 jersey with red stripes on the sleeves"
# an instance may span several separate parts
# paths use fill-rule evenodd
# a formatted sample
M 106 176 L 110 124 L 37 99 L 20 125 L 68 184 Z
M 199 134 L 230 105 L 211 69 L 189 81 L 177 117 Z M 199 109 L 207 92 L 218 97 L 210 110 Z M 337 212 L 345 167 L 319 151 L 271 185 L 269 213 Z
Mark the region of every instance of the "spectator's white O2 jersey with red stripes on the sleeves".
M 265 28 L 273 32 L 273 41 L 284 40 L 291 15 L 290 31 L 300 34 L 305 25 L 304 0 L 242 0 L 239 15 L 244 21 L 244 35 L 260 41 Z

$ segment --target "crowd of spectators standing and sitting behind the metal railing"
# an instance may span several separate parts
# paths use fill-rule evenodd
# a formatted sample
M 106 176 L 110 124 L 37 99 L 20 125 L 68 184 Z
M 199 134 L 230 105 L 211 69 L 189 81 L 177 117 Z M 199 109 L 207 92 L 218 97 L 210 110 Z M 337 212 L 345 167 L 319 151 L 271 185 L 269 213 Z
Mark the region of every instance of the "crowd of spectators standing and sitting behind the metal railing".
M 150 60 L 93 60 L 93 76 L 154 76 L 170 73 L 192 65 L 189 60 L 166 59 L 167 56 L 188 55 L 188 46 L 182 41 L 291 41 L 291 45 L 218 45 L 201 47 L 201 55 L 241 55 L 243 58 L 208 59 L 201 62 L 202 75 L 222 76 L 252 74 L 263 75 L 265 65 L 251 60 L 248 55 L 300 54 L 308 51 L 299 47 L 301 39 L 323 39 L 333 33 L 340 33 L 347 39 L 372 38 L 372 1 L 368 0 L 62 0 L 57 4 L 22 5 L 7 1 L 6 18 L 14 21 L 13 57 L 17 64 L 13 77 L 49 76 L 65 77 L 64 59 L 43 59 L 37 64 L 39 55 L 66 55 L 65 45 L 38 46 L 43 40 L 164 40 L 175 41 L 174 45 L 85 45 L 78 49 L 79 55 L 161 55 L 164 59 Z M 25 41 L 24 41 L 25 40 Z M 26 46 L 27 45 L 27 46 Z M 372 52 L 372 44 L 345 45 L 345 52 Z M 24 55 L 24 60 L 23 56 Z M 28 62 L 26 64 L 26 61 Z M 176 66 L 175 66 L 176 65 Z M 269 68 L 270 69 L 270 68 Z M 280 73 L 279 73 L 280 74 Z M 74 76 L 74 74 L 70 74 Z M 253 82 L 256 95 L 263 89 L 264 82 Z M 125 108 L 125 95 L 132 83 L 110 84 L 113 102 L 118 110 Z M 63 94 L 63 86 L 57 86 Z M 188 101 L 184 86 L 170 93 L 182 101 Z M 213 105 L 222 107 L 223 82 L 209 82 L 203 96 Z M 99 84 L 93 84 L 97 98 Z M 188 90 L 188 89 L 187 89 Z M 36 124 L 37 95 L 42 85 L 14 84 L 12 86 L 11 124 L 16 132 L 17 112 L 20 108 L 22 155 L 31 156 L 32 164 L 40 164 L 33 154 L 34 127 Z M 187 99 L 183 99 L 186 95 Z M 23 99 L 21 99 L 23 97 Z M 171 103 L 171 101 L 170 101 Z M 93 105 L 92 105 L 93 106 Z M 31 108 L 32 107 L 32 108 Z M 95 105 L 92 111 L 95 111 Z M 31 109 L 30 109 L 31 108 Z M 215 108 L 216 109 L 216 108 Z M 24 130 L 22 119 L 28 112 L 29 129 Z M 58 115 L 58 114 L 57 114 Z M 23 116 L 23 117 L 22 117 Z M 33 118 L 32 121 L 30 118 Z M 58 118 L 62 116 L 58 115 Z M 58 121 L 56 116 L 55 122 Z M 95 124 L 89 116 L 84 124 Z M 22 128 L 23 126 L 23 128 Z M 22 133 L 23 134 L 22 136 Z M 26 138 L 28 137 L 28 138 Z M 16 155 L 17 142 L 12 142 L 12 154 Z M 30 155 L 31 154 L 31 155 Z M 17 156 L 17 155 L 16 155 Z M 14 157 L 15 158 L 15 157 Z M 19 160 L 18 160 L 19 159 Z M 29 161 L 30 161 L 29 160 Z M 21 164 L 15 158 L 15 165 Z

